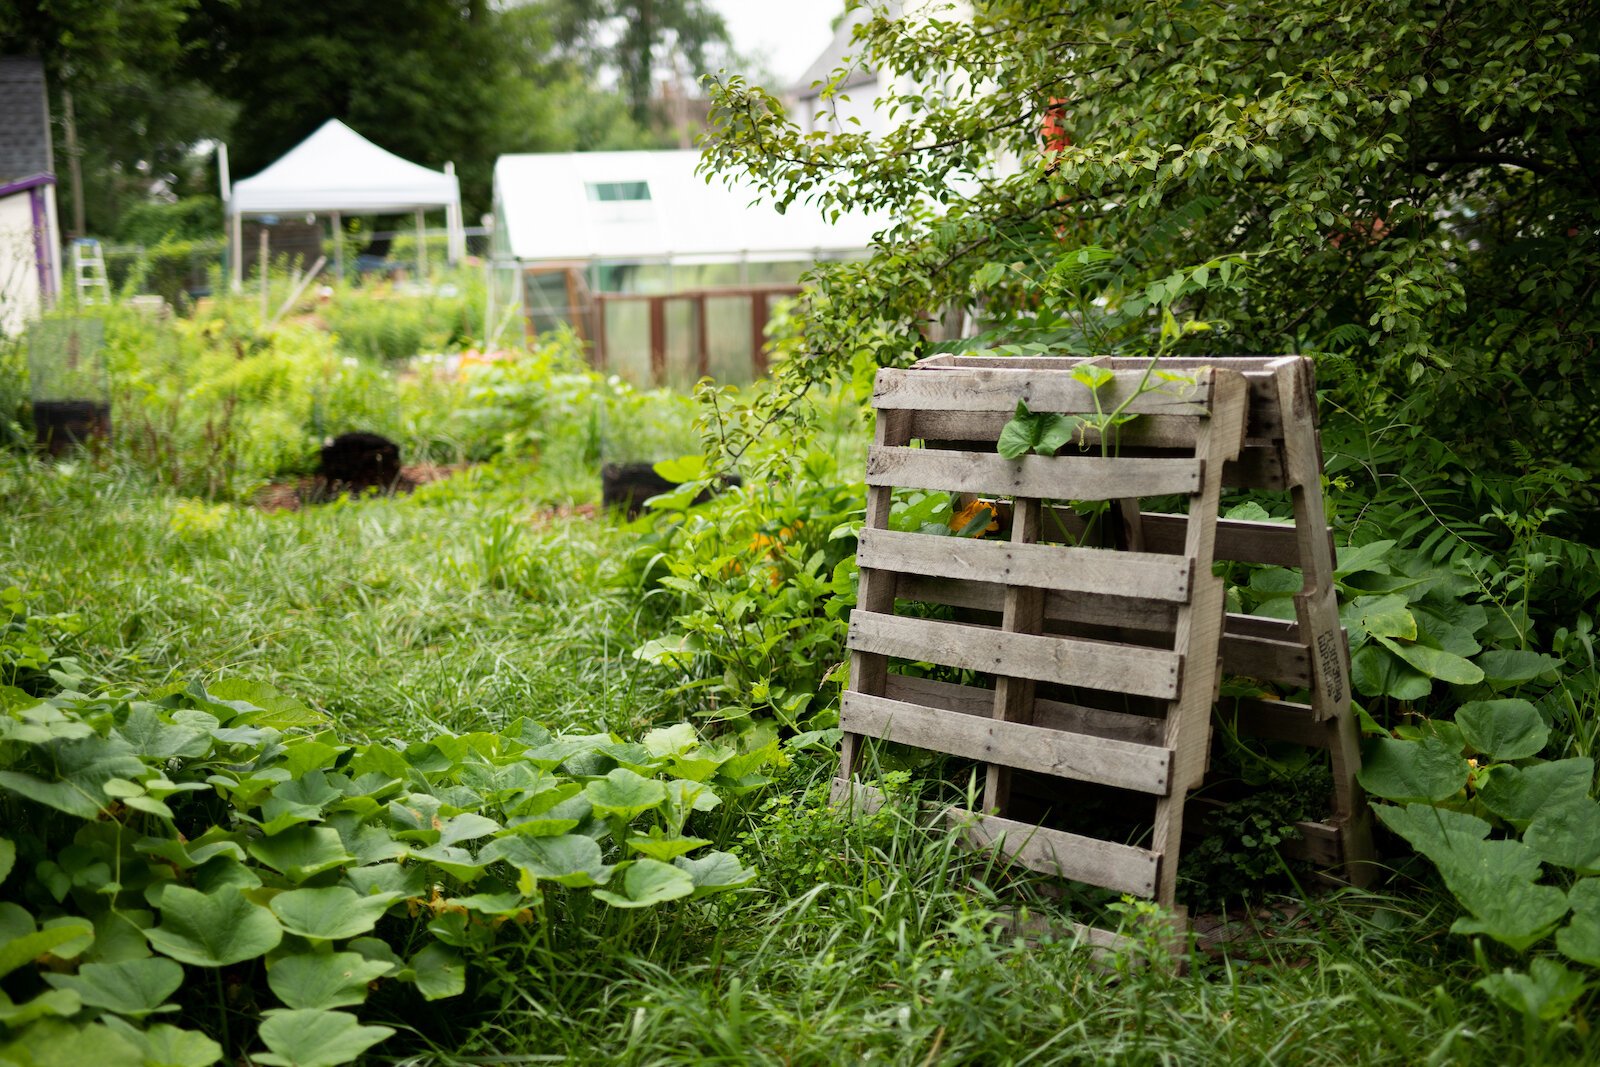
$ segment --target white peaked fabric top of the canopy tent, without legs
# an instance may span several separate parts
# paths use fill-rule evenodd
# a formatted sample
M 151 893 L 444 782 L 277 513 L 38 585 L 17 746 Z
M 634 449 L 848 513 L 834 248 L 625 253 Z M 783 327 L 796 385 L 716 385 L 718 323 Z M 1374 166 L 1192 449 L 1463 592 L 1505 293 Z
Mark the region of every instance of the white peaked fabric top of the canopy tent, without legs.
M 387 152 L 330 118 L 277 163 L 234 182 L 234 214 L 411 211 L 461 203 L 454 174 Z

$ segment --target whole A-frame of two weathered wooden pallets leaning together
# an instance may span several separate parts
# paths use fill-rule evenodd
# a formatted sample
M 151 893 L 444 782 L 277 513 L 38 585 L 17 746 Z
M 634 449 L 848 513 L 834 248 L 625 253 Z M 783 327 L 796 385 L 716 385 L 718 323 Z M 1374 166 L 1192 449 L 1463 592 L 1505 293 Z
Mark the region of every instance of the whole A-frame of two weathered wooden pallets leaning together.
M 1208 766 L 1227 662 L 1312 688 L 1307 705 L 1248 705 L 1240 720 L 1334 752 L 1336 814 L 1317 827 L 1338 838 L 1338 862 L 1365 859 L 1314 405 L 1298 363 L 1163 360 L 1152 376 L 1144 360 L 936 357 L 880 371 L 835 792 L 856 790 L 864 737 L 974 760 L 986 765 L 984 800 L 963 816 L 970 840 L 1174 909 L 1184 805 Z M 1274 403 L 1262 403 L 1269 394 Z M 1088 451 L 1010 461 L 995 445 L 1019 400 L 1090 426 L 1118 406 L 1134 418 L 1080 434 Z M 1317 477 L 1306 477 L 1307 456 Z M 1296 517 L 1315 512 L 1315 522 L 1219 525 L 1221 493 L 1242 475 L 1290 488 Z M 891 530 L 896 488 L 970 494 L 1008 533 L 978 541 Z M 1182 514 L 1139 509 L 1138 498 L 1163 496 L 1187 498 Z M 1253 558 L 1261 545 L 1282 557 L 1266 561 L 1304 565 L 1294 624 L 1224 611 L 1213 560 Z M 936 664 L 942 677 L 891 672 L 891 661 Z M 1014 776 L 1027 776 L 1032 798 L 1011 795 Z M 1154 801 L 1144 845 L 1050 825 L 1054 808 L 1075 806 L 1053 801 L 1069 787 L 1112 806 Z

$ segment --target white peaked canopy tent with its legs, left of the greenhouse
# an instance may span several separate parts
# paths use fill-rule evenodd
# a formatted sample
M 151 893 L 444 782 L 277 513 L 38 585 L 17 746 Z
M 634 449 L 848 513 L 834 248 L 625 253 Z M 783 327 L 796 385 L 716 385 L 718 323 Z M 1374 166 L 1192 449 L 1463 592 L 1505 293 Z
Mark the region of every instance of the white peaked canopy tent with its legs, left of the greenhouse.
M 454 165 L 445 163 L 445 170 L 430 171 L 378 147 L 338 118 L 330 118 L 277 163 L 235 182 L 229 192 L 234 288 L 243 280 L 240 245 L 245 216 L 328 216 L 333 224 L 336 269 L 342 274 L 344 214 L 413 213 L 422 254 L 424 216 L 434 210 L 445 211 L 448 256 L 456 262 L 466 254 L 467 238 Z M 421 267 L 426 269 L 426 261 Z

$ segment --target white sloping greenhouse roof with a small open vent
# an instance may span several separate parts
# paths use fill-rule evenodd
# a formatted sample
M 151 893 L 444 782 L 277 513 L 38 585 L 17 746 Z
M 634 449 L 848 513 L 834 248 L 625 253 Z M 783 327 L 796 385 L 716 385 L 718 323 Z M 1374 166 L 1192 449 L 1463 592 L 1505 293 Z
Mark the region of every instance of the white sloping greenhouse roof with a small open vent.
M 494 210 L 509 251 L 522 261 L 802 261 L 864 250 L 885 226 L 861 214 L 830 221 L 800 202 L 779 214 L 744 182 L 707 182 L 694 173 L 699 158 L 693 150 L 502 155 Z

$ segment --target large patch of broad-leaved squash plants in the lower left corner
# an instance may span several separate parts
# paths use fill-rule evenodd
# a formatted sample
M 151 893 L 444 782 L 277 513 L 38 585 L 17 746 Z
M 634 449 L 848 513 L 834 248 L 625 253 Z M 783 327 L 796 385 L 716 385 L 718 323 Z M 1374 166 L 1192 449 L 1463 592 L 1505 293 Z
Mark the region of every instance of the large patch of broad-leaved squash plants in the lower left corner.
M 8 1062 L 341 1064 L 395 1033 L 363 1017 L 464 993 L 498 945 L 754 878 L 691 824 L 765 784 L 776 742 L 518 720 L 341 744 L 258 683 L 53 675 L 0 717 L 0 813 L 27 827 L 0 838 Z

